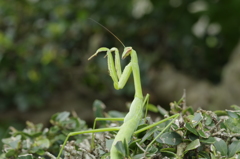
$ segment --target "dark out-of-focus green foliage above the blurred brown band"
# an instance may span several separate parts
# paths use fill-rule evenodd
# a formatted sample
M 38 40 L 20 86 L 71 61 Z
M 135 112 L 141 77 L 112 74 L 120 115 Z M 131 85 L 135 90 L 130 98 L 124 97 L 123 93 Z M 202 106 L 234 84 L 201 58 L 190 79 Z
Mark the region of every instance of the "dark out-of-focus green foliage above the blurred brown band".
M 194 10 L 196 6 L 200 10 Z M 87 18 L 94 18 L 145 54 L 140 59 L 143 70 L 167 60 L 198 78 L 217 82 L 239 38 L 235 20 L 239 7 L 238 0 L 1 1 L 0 109 L 26 111 L 44 106 L 54 92 L 70 87 L 70 70 L 84 70 L 85 54 L 94 50 L 94 43 L 120 46 Z M 192 30 L 198 22 L 206 23 L 195 35 Z M 103 33 L 105 39 L 99 40 Z M 99 76 L 104 65 L 98 63 L 96 75 L 80 73 L 78 82 L 104 90 L 99 85 L 106 80 Z

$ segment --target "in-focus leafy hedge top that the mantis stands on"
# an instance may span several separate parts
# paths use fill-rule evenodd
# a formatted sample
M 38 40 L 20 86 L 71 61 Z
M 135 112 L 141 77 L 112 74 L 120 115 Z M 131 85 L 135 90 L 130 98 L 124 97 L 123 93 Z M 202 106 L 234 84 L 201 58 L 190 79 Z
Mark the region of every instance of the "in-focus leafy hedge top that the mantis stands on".
M 102 116 L 103 108 L 100 101 L 95 102 L 95 114 Z M 131 143 L 118 142 L 117 149 L 126 158 L 239 158 L 240 157 L 240 107 L 232 106 L 234 110 L 206 111 L 199 109 L 193 111 L 186 107 L 184 100 L 171 103 L 171 111 L 167 112 L 161 107 L 155 107 L 160 116 L 181 113 L 171 127 L 160 137 L 156 136 L 170 121 L 161 123 L 145 132 L 134 135 Z M 153 107 L 153 105 L 151 105 Z M 155 109 L 155 110 L 156 110 Z M 110 111 L 107 116 L 121 117 L 124 114 Z M 159 119 L 158 119 L 159 120 Z M 68 112 L 57 113 L 50 120 L 53 125 L 43 129 L 41 124 L 34 125 L 27 122 L 23 131 L 12 130 L 12 137 L 3 139 L 4 153 L 0 158 L 55 158 L 59 145 L 64 141 L 67 133 L 85 130 L 85 122 L 70 116 Z M 150 117 L 143 120 L 138 129 L 152 123 Z M 101 122 L 100 127 L 109 127 L 112 123 Z M 121 123 L 115 123 L 121 124 Z M 65 147 L 65 158 L 89 156 L 92 158 L 109 158 L 109 148 L 115 132 L 96 134 L 95 146 L 91 147 L 91 135 L 73 136 L 72 141 Z M 154 143 L 148 147 L 154 139 Z M 24 158 L 25 159 L 25 158 Z

